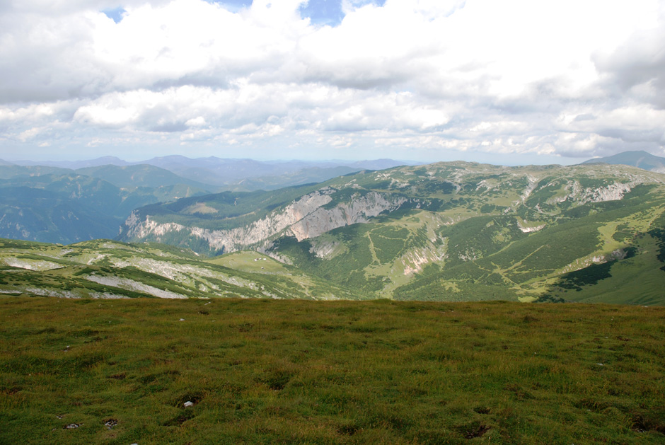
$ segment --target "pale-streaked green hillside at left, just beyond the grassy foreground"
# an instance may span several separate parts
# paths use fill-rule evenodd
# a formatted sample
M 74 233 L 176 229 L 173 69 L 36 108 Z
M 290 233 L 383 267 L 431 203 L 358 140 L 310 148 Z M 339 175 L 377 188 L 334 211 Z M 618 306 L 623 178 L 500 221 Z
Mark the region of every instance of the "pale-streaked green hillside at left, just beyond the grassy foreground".
M 362 296 L 256 253 L 207 262 L 191 250 L 169 246 L 109 240 L 63 246 L 4 239 L 0 239 L 0 294 L 98 299 Z

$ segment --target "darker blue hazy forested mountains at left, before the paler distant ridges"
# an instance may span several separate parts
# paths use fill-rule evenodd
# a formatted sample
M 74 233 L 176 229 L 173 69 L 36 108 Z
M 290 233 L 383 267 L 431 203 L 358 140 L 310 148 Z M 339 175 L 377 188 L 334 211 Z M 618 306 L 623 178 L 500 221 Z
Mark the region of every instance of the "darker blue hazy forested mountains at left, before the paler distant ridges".
M 135 170 L 140 175 L 145 169 Z M 0 179 L 0 238 L 29 241 L 76 243 L 114 238 L 127 215 L 137 207 L 207 193 L 179 183 L 118 187 L 100 178 L 55 167 L 0 166 L 0 173 L 3 172 L 11 177 Z M 115 179 L 122 182 L 122 178 Z

